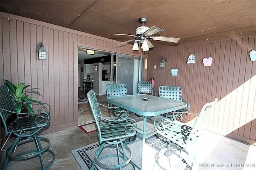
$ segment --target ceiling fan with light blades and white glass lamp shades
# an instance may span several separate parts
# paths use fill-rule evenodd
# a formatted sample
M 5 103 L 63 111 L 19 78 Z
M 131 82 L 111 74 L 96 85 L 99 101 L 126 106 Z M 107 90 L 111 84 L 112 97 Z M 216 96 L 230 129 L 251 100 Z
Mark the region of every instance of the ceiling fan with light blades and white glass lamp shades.
M 146 18 L 140 18 L 139 19 L 140 24 L 142 24 L 142 26 L 137 27 L 135 30 L 135 34 L 136 35 L 129 35 L 129 34 L 111 34 L 111 35 L 119 35 L 119 36 L 132 36 L 134 37 L 134 39 L 132 40 L 127 40 L 125 42 L 122 43 L 118 43 L 116 44 L 116 46 L 120 46 L 123 45 L 124 43 L 128 43 L 128 42 L 132 42 L 134 41 L 134 44 L 137 42 L 142 43 L 142 49 L 144 50 L 144 44 L 147 44 L 147 47 L 145 48 L 144 51 L 148 51 L 149 48 L 154 47 L 154 45 L 150 42 L 150 40 L 158 40 L 158 41 L 164 41 L 164 42 L 172 42 L 172 43 L 178 43 L 180 41 L 180 38 L 172 38 L 172 37 L 164 37 L 164 36 L 152 36 L 154 34 L 157 34 L 159 32 L 163 32 L 164 30 L 157 28 L 155 26 L 152 26 L 151 28 L 148 28 L 146 26 L 144 26 L 144 24 L 147 22 Z M 137 44 L 138 46 L 138 44 Z M 134 48 L 133 48 L 134 49 Z M 134 49 L 134 50 L 138 50 Z

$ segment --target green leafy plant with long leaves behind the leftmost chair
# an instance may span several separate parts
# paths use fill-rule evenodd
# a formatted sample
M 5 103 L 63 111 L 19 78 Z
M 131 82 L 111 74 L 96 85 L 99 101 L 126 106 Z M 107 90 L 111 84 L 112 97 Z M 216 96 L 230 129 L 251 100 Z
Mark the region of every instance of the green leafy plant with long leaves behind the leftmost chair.
M 12 84 L 10 81 L 5 80 L 5 85 L 10 90 L 10 93 L 14 99 L 14 102 L 17 107 L 18 113 L 21 112 L 22 107 L 26 108 L 28 112 L 31 112 L 30 115 L 33 115 L 33 104 L 32 103 L 40 103 L 34 97 L 31 97 L 33 94 L 37 94 L 43 96 L 38 90 L 40 88 L 30 88 L 30 85 L 25 85 L 25 83 L 19 83 L 19 80 L 16 82 L 16 86 Z M 41 89 L 40 89 L 41 90 Z

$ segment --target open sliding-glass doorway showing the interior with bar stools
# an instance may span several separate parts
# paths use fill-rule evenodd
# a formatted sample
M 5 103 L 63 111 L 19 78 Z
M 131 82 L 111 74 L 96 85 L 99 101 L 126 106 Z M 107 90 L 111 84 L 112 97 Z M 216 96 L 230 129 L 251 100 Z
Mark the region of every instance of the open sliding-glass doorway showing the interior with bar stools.
M 98 51 L 96 49 L 92 49 L 92 50 L 95 50 L 95 54 L 96 54 L 92 56 L 92 55 L 85 54 L 86 49 L 87 49 L 86 47 L 78 47 L 78 72 L 79 72 L 78 83 L 80 81 L 80 85 L 78 84 L 78 87 L 80 87 L 78 88 L 78 98 L 84 97 L 87 99 L 86 92 L 83 91 L 83 83 L 84 83 L 84 80 L 88 78 L 88 75 L 90 75 L 89 77 L 91 77 L 91 80 L 94 83 L 97 83 L 97 85 L 94 84 L 94 87 L 101 85 L 98 83 L 102 83 L 103 81 L 106 81 L 106 79 L 108 79 L 109 77 L 109 80 L 107 80 L 109 84 L 110 83 L 126 84 L 129 94 L 136 94 L 138 77 L 139 75 L 141 75 L 139 68 L 142 68 L 141 66 L 139 67 L 141 62 L 139 61 L 138 57 L 123 55 L 123 54 L 114 54 L 108 51 Z M 93 60 L 93 58 L 95 58 L 95 60 Z M 104 80 L 102 80 L 101 76 L 100 77 L 94 76 L 93 75 L 94 70 L 91 71 L 90 69 L 88 69 L 89 68 L 88 66 L 90 65 L 93 66 L 95 65 L 95 63 L 99 63 L 99 61 L 102 61 L 102 60 L 104 60 L 104 62 L 102 62 L 101 65 L 104 65 L 103 66 L 104 69 L 102 67 L 99 67 L 99 68 L 104 70 L 104 74 L 105 74 Z M 119 60 L 119 66 L 118 66 L 118 60 Z M 107 65 L 110 66 L 110 73 L 108 71 L 105 73 Z M 83 71 L 82 71 L 82 67 L 83 67 Z M 97 70 L 97 71 L 98 71 L 97 73 L 101 73 L 102 70 Z M 94 80 L 96 77 L 98 77 L 98 79 L 100 78 L 101 79 L 96 81 Z M 103 87 L 103 90 L 104 88 L 106 87 Z M 108 105 L 106 102 L 105 94 L 97 95 L 97 99 L 99 103 L 103 105 Z M 109 111 L 107 108 L 101 107 L 101 110 L 102 110 L 102 115 L 104 117 L 114 116 L 113 114 L 112 115 L 109 114 Z M 82 111 L 82 113 L 78 114 L 78 125 L 84 125 L 94 121 L 89 103 L 83 103 L 83 104 L 78 103 L 78 113 L 79 111 Z

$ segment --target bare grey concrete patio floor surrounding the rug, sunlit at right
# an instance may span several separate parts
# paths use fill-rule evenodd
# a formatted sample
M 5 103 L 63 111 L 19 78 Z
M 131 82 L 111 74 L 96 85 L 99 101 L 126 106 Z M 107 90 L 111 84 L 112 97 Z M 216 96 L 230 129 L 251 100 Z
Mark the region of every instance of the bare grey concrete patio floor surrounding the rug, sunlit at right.
M 72 153 L 73 149 L 98 141 L 97 132 L 85 134 L 78 127 L 40 135 L 50 139 L 52 150 L 56 155 L 50 170 L 80 170 Z M 10 140 L 7 146 L 12 144 Z M 32 146 L 26 146 L 32 147 Z M 22 147 L 20 147 L 22 149 Z M 193 146 L 196 150 L 196 160 L 200 170 L 253 170 L 256 169 L 256 146 L 227 138 L 225 136 L 203 130 L 200 140 Z M 19 152 L 19 150 L 17 150 Z M 50 160 L 45 154 L 45 164 Z M 5 152 L 1 151 L 1 167 Z M 39 158 L 26 161 L 10 162 L 7 170 L 40 169 Z M 148 170 L 148 168 L 146 168 Z

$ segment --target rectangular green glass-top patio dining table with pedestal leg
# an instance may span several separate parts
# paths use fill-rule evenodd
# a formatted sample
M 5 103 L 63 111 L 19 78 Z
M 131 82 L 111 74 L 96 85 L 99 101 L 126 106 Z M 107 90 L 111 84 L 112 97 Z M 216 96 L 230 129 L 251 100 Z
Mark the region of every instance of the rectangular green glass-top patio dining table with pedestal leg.
M 143 100 L 148 99 L 146 101 Z M 144 152 L 144 145 L 146 144 L 146 138 L 156 134 L 156 132 L 150 132 L 146 134 L 146 125 L 147 117 L 158 116 L 164 113 L 176 111 L 186 107 L 186 103 L 182 101 L 176 101 L 171 99 L 165 99 L 162 97 L 138 94 L 138 95 L 126 95 L 126 96 L 117 96 L 117 97 L 107 97 L 106 101 L 112 103 L 118 107 L 122 107 L 128 111 L 136 113 L 137 115 L 142 116 L 143 126 L 142 126 L 142 166 L 146 165 Z M 139 129 L 139 128 L 138 128 Z M 137 134 L 139 132 L 137 131 Z

